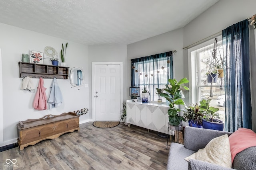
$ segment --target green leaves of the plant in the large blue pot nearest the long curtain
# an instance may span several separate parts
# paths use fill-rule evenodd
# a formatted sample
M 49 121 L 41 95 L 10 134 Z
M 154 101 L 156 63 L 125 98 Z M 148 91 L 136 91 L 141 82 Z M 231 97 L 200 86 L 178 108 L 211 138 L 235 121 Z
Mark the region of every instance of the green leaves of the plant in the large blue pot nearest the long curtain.
M 213 122 L 214 119 L 219 119 L 220 117 L 218 116 L 219 113 L 216 113 L 217 111 L 219 111 L 219 108 L 210 106 L 211 100 L 212 99 L 201 100 L 200 101 L 200 109 L 204 111 L 204 119 L 206 121 Z

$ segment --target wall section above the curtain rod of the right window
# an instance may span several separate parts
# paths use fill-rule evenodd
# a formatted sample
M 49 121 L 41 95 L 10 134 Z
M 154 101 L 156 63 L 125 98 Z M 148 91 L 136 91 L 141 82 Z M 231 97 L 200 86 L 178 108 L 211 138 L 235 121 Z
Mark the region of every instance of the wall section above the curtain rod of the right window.
M 220 0 L 184 27 L 184 47 L 253 16 L 255 0 Z

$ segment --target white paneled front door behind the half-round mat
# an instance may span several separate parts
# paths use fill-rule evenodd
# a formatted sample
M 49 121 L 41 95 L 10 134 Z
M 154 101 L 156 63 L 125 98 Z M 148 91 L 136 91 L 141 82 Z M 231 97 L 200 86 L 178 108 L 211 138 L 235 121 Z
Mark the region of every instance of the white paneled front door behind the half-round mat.
M 95 64 L 94 69 L 95 121 L 120 121 L 120 64 Z

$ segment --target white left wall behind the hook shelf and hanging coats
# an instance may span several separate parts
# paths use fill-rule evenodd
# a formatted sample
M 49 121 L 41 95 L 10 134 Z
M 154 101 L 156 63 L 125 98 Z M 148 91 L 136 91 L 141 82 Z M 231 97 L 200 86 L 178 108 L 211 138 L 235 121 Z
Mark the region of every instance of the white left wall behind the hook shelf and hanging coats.
M 57 79 L 64 98 L 64 103 L 60 107 L 50 110 L 34 110 L 32 102 L 36 90 L 35 92 L 20 90 L 22 78 L 19 78 L 18 66 L 18 62 L 21 61 L 22 53 L 28 54 L 29 50 L 44 51 L 44 47 L 46 46 L 53 47 L 60 53 L 62 43 L 68 42 L 66 63 L 70 69 L 75 66 L 81 67 L 85 72 L 85 83 L 88 84 L 88 46 L 2 23 L 0 23 L 0 30 L 3 80 L 3 119 L 0 117 L 0 123 L 3 123 L 3 142 L 0 141 L 0 147 L 16 142 L 16 124 L 18 121 L 38 119 L 48 114 L 58 115 L 64 112 L 89 107 L 88 88 L 85 88 L 84 86 L 80 88 L 72 87 L 69 79 Z M 45 59 L 44 61 L 46 60 L 48 59 Z M 48 62 L 46 61 L 45 63 Z M 32 78 L 32 82 L 34 83 L 34 86 L 37 87 L 39 79 Z M 44 79 L 44 87 L 47 88 L 47 96 L 50 94 L 49 88 L 51 82 L 52 79 Z M 80 116 L 80 122 L 87 121 L 89 117 L 89 114 Z

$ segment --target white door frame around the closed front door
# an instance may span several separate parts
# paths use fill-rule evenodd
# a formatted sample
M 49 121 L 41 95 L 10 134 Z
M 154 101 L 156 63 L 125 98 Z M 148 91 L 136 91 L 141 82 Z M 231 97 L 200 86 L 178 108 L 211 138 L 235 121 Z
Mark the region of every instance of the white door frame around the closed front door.
M 95 121 L 95 65 L 120 65 L 120 108 L 123 107 L 123 62 L 92 62 L 92 120 Z

